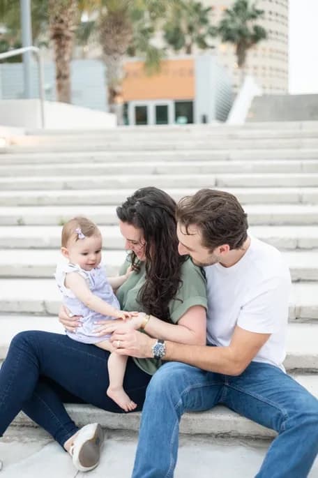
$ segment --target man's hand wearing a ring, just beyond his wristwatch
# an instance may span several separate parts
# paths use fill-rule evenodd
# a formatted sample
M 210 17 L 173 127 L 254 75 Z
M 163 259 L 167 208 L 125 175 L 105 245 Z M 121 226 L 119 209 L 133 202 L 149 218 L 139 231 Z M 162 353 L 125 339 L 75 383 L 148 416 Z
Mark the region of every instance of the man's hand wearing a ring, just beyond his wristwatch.
M 137 330 L 116 330 L 109 341 L 114 345 L 116 353 L 130 355 L 138 359 L 153 357 L 152 347 L 156 338 L 151 338 Z

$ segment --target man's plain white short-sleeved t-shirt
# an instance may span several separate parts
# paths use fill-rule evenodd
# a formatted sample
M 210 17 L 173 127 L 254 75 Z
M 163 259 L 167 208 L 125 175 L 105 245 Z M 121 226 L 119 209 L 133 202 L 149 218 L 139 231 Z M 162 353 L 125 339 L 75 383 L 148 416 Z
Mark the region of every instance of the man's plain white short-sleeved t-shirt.
M 255 237 L 232 267 L 205 267 L 208 292 L 207 341 L 229 345 L 236 325 L 271 334 L 254 361 L 282 368 L 291 288 L 289 269 L 280 252 Z

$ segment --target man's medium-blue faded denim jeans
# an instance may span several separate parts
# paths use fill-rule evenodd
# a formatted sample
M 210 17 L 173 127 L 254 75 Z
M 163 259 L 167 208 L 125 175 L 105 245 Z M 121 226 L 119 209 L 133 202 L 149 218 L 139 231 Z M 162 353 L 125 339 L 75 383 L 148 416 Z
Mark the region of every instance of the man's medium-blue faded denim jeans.
M 171 362 L 147 388 L 132 478 L 173 477 L 181 415 L 217 403 L 278 432 L 257 478 L 308 476 L 318 453 L 318 401 L 294 379 L 257 362 L 237 377 Z

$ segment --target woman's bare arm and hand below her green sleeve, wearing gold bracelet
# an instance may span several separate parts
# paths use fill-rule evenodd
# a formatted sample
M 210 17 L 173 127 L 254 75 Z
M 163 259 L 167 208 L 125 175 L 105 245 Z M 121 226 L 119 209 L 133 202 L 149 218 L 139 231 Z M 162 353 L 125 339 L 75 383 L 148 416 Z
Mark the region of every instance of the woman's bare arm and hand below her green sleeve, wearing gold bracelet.
M 139 313 L 136 317 L 122 321 L 108 320 L 98 321 L 100 327 L 96 327 L 96 335 L 112 334 L 118 330 L 140 329 L 146 318 L 145 313 Z M 103 325 L 102 325 L 103 324 Z M 153 315 L 150 315 L 144 331 L 151 337 L 162 338 L 165 341 L 184 343 L 188 345 L 206 345 L 206 309 L 203 306 L 188 308 L 178 324 L 169 324 Z

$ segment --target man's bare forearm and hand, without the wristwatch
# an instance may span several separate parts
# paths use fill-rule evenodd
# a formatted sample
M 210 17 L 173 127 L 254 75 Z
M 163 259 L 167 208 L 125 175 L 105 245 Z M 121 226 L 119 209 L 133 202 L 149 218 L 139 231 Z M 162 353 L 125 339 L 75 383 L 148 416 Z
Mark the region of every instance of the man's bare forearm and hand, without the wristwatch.
M 181 361 L 225 375 L 240 375 L 270 336 L 271 334 L 256 334 L 236 326 L 228 347 L 183 345 L 167 341 L 164 360 Z M 138 331 L 124 334 L 114 332 L 110 340 L 121 341 L 121 348 L 116 349 L 119 354 L 139 358 L 153 357 L 152 347 L 156 340 Z

